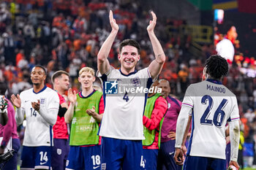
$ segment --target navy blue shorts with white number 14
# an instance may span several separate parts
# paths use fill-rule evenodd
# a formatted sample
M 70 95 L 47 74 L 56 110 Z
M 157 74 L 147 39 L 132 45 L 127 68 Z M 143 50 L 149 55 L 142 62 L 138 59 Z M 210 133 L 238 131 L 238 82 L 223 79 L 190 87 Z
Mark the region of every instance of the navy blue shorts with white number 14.
M 20 169 L 50 169 L 52 147 L 23 146 Z

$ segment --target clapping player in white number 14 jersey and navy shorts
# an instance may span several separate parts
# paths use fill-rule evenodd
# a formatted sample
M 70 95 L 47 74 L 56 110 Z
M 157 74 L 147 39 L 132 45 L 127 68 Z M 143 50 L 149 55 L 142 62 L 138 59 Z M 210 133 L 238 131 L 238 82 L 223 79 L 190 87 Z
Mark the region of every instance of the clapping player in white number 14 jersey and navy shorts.
M 12 94 L 16 107 L 16 122 L 23 123 L 26 116 L 26 130 L 23 140 L 20 169 L 50 169 L 53 146 L 53 129 L 59 112 L 59 96 L 46 87 L 46 70 L 34 66 L 31 70 L 33 88 L 20 95 Z

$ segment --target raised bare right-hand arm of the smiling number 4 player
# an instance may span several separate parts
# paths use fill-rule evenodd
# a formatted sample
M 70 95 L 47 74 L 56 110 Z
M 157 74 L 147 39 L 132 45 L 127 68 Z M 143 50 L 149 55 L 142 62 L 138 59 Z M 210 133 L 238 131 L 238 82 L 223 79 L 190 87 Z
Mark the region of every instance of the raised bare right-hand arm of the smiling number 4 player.
M 154 50 L 155 59 L 148 66 L 148 70 L 151 74 L 151 77 L 154 79 L 154 77 L 157 77 L 158 74 L 161 72 L 162 66 L 165 63 L 165 53 L 164 50 L 162 50 L 162 46 L 157 39 L 157 36 L 154 34 L 154 28 L 157 24 L 157 16 L 153 11 L 151 11 L 151 15 L 153 20 L 150 20 L 147 31 L 149 39 L 151 41 L 151 45 Z

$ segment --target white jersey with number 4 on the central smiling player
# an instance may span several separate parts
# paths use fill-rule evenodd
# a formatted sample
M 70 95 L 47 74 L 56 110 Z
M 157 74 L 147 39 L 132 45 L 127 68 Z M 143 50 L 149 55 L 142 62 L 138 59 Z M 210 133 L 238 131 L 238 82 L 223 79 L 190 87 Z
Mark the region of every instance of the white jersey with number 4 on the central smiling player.
M 124 75 L 111 68 L 102 76 L 105 112 L 99 136 L 142 140 L 143 112 L 152 80 L 148 68 Z

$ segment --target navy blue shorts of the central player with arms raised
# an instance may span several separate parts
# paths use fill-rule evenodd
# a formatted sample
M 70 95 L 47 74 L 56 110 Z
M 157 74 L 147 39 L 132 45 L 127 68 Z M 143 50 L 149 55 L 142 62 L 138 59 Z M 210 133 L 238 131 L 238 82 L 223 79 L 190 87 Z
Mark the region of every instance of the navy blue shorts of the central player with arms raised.
M 142 161 L 141 140 L 102 137 L 102 170 L 140 170 Z

